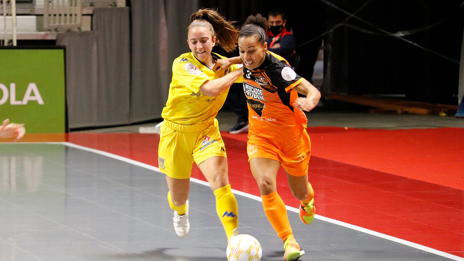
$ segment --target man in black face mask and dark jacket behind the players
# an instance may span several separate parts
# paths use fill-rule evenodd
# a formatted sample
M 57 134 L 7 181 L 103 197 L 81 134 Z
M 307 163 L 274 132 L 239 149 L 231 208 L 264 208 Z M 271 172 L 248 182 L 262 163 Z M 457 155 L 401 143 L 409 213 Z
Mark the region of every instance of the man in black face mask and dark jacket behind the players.
M 267 48 L 284 57 L 291 66 L 295 57 L 295 37 L 285 28 L 287 21 L 282 10 L 274 9 L 267 14 L 269 28 L 267 30 Z

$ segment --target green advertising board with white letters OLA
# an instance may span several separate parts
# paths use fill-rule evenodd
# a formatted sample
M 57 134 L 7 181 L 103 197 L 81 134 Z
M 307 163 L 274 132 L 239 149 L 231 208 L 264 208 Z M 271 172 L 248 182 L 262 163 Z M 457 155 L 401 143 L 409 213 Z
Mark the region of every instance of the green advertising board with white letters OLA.
M 0 122 L 66 132 L 64 47 L 0 48 Z

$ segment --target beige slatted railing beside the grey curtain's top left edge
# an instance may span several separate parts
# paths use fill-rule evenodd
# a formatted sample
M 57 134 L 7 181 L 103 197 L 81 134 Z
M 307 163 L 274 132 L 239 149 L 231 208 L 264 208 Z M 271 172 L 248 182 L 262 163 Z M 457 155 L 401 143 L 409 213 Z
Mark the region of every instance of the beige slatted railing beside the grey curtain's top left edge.
M 45 30 L 80 30 L 81 18 L 81 0 L 45 0 Z

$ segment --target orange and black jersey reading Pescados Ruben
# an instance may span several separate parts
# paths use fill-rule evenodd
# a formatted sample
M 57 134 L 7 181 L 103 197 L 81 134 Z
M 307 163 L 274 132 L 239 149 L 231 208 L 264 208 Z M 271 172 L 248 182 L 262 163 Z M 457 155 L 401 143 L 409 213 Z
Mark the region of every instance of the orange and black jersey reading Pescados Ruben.
M 304 78 L 281 56 L 267 51 L 254 70 L 243 67 L 243 90 L 248 102 L 249 135 L 276 140 L 295 137 L 308 122 L 303 111 L 291 106 L 298 93 L 292 90 Z

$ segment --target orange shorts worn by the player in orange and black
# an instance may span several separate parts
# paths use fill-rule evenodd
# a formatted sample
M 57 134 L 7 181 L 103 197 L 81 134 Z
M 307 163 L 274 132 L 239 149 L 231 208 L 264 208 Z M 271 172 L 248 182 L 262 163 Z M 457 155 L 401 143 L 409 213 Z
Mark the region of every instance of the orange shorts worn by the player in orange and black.
M 271 141 L 258 136 L 249 136 L 247 142 L 248 161 L 252 158 L 269 158 L 280 162 L 288 174 L 308 174 L 311 141 L 306 129 L 296 137 Z

